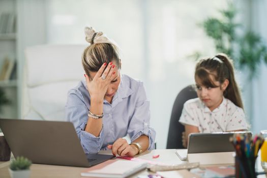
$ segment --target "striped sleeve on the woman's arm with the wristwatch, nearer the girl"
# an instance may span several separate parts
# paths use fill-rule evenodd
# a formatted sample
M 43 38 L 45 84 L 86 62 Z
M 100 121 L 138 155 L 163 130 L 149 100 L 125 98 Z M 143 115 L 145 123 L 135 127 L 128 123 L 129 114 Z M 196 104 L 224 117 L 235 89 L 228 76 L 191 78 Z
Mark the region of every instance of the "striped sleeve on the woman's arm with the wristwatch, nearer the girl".
M 128 134 L 131 141 L 137 139 L 141 135 L 149 137 L 149 150 L 155 149 L 156 132 L 150 127 L 150 101 L 147 100 L 143 83 L 140 82 L 137 90 L 137 100 L 133 116 L 131 118 Z

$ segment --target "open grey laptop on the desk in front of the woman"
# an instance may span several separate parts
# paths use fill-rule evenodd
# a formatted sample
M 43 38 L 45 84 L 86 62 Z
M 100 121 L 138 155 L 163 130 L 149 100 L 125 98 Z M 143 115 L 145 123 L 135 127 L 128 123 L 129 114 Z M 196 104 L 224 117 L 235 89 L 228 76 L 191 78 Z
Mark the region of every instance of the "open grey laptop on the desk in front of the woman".
M 33 163 L 91 167 L 114 157 L 85 154 L 71 122 L 0 119 L 0 128 L 15 158 Z

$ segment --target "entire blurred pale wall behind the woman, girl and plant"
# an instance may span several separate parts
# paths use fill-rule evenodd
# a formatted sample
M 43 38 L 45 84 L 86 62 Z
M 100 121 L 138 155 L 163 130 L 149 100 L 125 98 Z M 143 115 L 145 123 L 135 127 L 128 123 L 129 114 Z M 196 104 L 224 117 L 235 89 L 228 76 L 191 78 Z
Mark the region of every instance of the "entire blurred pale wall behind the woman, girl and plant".
M 253 4 L 253 24 L 247 25 L 259 32 L 265 42 L 266 1 L 246 0 L 242 10 L 250 9 L 246 3 Z M 243 1 L 239 2 L 243 4 Z M 197 50 L 205 55 L 215 53 L 212 41 L 204 35 L 198 23 L 206 17 L 218 16 L 218 10 L 226 6 L 224 0 L 19 0 L 17 47 L 21 59 L 20 74 L 26 46 L 85 44 L 83 28 L 94 26 L 120 45 L 122 72 L 144 81 L 151 100 L 151 125 L 157 131 L 157 146 L 163 149 L 174 99 L 184 86 L 194 83 L 195 62 L 190 55 Z M 243 19 L 244 23 L 247 21 L 248 18 Z M 242 72 L 239 83 L 244 91 L 247 113 L 253 121 L 252 129 L 257 132 L 267 126 L 267 70 L 261 65 L 259 78 L 252 83 L 242 80 Z M 251 90 L 248 90 L 249 86 Z M 20 87 L 19 95 L 23 89 Z M 253 103 L 249 97 L 253 97 Z

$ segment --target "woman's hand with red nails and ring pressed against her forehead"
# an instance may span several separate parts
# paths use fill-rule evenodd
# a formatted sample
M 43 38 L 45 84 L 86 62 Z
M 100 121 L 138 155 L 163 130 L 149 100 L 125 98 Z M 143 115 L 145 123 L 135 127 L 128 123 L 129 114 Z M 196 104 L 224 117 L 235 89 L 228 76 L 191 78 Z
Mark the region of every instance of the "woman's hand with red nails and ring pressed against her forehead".
M 102 101 L 107 92 L 108 85 L 115 77 L 114 75 L 115 66 L 112 65 L 112 62 L 110 62 L 107 66 L 106 65 L 107 63 L 104 63 L 101 66 L 101 68 L 98 70 L 98 72 L 96 73 L 93 79 L 91 78 L 92 76 L 89 77 L 86 74 L 84 74 L 86 78 L 87 90 L 90 94 L 91 99 Z

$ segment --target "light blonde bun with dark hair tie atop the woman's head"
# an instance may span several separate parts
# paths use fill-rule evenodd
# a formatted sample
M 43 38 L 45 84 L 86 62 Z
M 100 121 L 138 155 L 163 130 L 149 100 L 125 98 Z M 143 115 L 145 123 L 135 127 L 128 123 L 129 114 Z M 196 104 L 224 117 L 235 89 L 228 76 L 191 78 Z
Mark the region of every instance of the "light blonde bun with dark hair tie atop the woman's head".
M 93 27 L 85 27 L 85 40 L 92 44 L 97 43 L 112 43 L 104 34 L 103 32 L 97 32 Z

